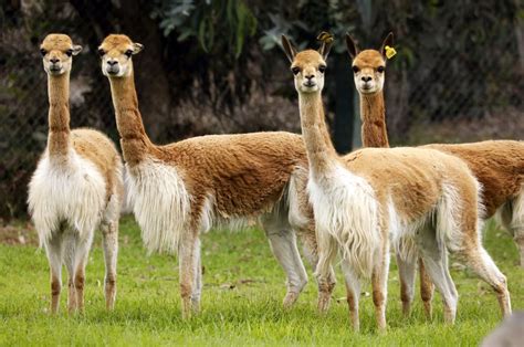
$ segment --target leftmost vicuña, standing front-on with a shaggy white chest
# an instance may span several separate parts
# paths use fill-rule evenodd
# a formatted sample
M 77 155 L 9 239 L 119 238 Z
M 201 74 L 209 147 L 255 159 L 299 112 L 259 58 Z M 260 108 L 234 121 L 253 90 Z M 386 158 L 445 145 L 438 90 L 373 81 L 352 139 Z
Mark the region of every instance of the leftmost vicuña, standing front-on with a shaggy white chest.
M 48 148 L 39 161 L 38 169 L 30 183 L 29 203 L 33 213 L 33 220 L 38 228 L 41 242 L 45 245 L 51 267 L 51 312 L 56 313 L 60 303 L 61 292 L 61 267 L 62 262 L 67 266 L 69 271 L 69 296 L 67 306 L 70 312 L 83 311 L 84 308 L 84 283 L 85 283 L 85 265 L 91 248 L 92 233 L 94 230 L 78 230 L 75 223 L 71 225 L 71 219 L 77 218 L 72 215 L 62 215 L 63 211 L 54 211 L 45 208 L 53 199 L 60 199 L 63 194 L 70 198 L 82 200 L 82 197 L 71 197 L 73 191 L 55 191 L 69 190 L 66 181 L 75 171 L 78 170 L 76 158 L 85 159 L 91 162 L 96 171 L 101 175 L 105 188 L 105 204 L 99 211 L 93 211 L 91 206 L 93 201 L 80 203 L 76 208 L 81 211 L 76 213 L 82 219 L 99 219 L 92 221 L 93 225 L 99 223 L 103 231 L 104 253 L 106 256 L 106 281 L 105 294 L 106 306 L 113 308 L 116 295 L 116 253 L 117 253 L 117 234 L 118 234 L 118 217 L 122 197 L 124 194 L 124 186 L 122 181 L 122 159 L 113 145 L 113 143 L 99 132 L 93 129 L 70 129 L 70 72 L 72 66 L 72 55 L 77 54 L 82 50 L 81 46 L 74 45 L 71 38 L 65 34 L 49 34 L 41 44 L 41 53 L 43 55 L 43 66 L 48 73 L 49 90 L 49 137 Z M 76 157 L 77 156 L 77 157 Z M 49 166 L 48 166 L 49 161 Z M 82 169 L 82 168 L 81 168 Z M 90 168 L 84 168 L 87 172 Z M 56 174 L 63 172 L 63 174 Z M 42 194 L 45 189 L 46 177 L 49 175 L 49 187 L 51 192 L 49 196 Z M 62 175 L 62 177 L 60 177 Z M 85 176 L 85 180 L 91 177 Z M 51 182 L 52 180 L 56 180 Z M 61 187 L 61 180 L 64 181 Z M 54 186 L 51 186 L 54 185 Z M 74 185 L 74 183 L 73 183 Z M 56 188 L 57 187 L 57 188 Z M 99 189 L 94 187 L 93 189 Z M 56 196 L 55 196 L 55 194 Z M 96 193 L 95 193 L 96 194 Z M 91 199 L 91 198 L 90 198 Z M 67 201 L 54 202 L 50 206 L 66 206 Z M 60 210 L 60 208 L 59 208 Z M 63 210 L 63 208 L 62 208 Z M 84 211 L 85 210 L 85 211 Z M 86 212 L 90 211 L 90 212 Z M 87 217 L 83 217 L 83 213 Z M 75 214 L 76 215 L 76 214 Z M 64 241 L 76 234 L 75 241 Z M 74 242 L 71 243 L 71 242 Z M 67 249 L 63 244 L 67 243 L 73 249 Z M 64 255 L 65 253 L 66 255 Z M 63 259 L 65 257 L 65 260 Z

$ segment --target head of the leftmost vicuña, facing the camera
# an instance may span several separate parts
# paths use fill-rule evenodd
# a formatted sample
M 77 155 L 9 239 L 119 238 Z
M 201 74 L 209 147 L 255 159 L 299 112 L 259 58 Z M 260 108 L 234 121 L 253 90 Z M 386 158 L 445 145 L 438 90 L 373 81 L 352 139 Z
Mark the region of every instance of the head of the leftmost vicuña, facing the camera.
M 52 76 L 71 72 L 72 56 L 81 51 L 82 46 L 65 34 L 49 34 L 40 45 L 44 70 Z

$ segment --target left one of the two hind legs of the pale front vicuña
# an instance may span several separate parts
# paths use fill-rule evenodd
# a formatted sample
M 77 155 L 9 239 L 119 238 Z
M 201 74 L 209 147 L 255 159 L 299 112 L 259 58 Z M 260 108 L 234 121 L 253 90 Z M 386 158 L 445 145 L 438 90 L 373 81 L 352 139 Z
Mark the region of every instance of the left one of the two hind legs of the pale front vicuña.
M 417 243 L 426 270 L 434 283 L 437 291 L 442 295 L 444 305 L 444 322 L 453 324 L 457 315 L 459 295 L 449 273 L 446 245 L 438 242 L 432 228 L 422 228 L 417 234 Z

